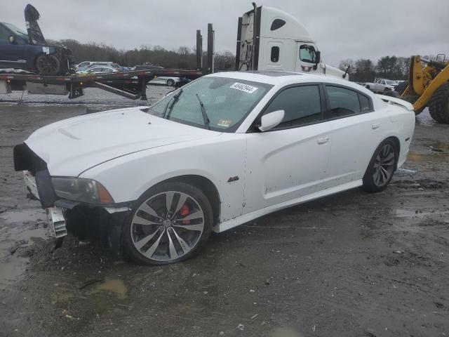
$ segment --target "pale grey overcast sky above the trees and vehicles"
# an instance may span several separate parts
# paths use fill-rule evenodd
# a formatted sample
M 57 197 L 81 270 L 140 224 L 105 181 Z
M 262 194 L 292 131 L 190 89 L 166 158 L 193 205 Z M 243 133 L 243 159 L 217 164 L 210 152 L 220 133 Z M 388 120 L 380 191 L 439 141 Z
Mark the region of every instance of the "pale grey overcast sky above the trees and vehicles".
M 31 0 L 28 0 L 31 1 Z M 0 20 L 25 29 L 28 1 L 1 0 Z M 6 3 L 8 3 L 6 5 Z M 245 0 L 34 0 L 47 39 L 105 42 L 116 48 L 142 44 L 165 48 L 195 45 L 196 29 L 206 50 L 208 22 L 215 49 L 235 53 L 237 20 Z M 323 61 L 382 55 L 449 54 L 449 0 L 258 0 L 299 19 L 316 39 Z M 449 56 L 449 55 L 448 55 Z

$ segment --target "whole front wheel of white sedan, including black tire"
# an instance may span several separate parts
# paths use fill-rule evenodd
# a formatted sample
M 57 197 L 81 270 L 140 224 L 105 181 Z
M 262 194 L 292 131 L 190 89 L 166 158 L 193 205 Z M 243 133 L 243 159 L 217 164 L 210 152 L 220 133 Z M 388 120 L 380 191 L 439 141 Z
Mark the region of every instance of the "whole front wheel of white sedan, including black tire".
M 123 250 L 142 265 L 180 262 L 199 253 L 212 225 L 212 207 L 201 190 L 187 183 L 162 183 L 135 202 L 123 227 Z

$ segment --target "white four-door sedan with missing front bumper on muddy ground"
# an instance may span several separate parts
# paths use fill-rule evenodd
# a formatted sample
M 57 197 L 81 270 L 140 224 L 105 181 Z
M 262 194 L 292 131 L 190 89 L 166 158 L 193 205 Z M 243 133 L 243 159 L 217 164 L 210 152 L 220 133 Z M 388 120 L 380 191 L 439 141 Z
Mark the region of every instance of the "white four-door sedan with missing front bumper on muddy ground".
M 44 126 L 14 159 L 57 236 L 64 219 L 73 232 L 89 223 L 114 251 L 157 265 L 194 256 L 211 231 L 354 187 L 384 190 L 414 126 L 410 103 L 348 81 L 222 72 L 151 107 Z

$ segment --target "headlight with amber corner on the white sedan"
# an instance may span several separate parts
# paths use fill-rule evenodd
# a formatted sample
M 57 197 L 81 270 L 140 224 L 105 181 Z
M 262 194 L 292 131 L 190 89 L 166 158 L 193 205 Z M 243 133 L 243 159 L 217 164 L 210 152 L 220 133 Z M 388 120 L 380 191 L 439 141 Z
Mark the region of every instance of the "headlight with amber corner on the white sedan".
M 51 178 L 56 195 L 63 199 L 88 204 L 112 204 L 111 194 L 105 187 L 92 179 L 56 177 Z

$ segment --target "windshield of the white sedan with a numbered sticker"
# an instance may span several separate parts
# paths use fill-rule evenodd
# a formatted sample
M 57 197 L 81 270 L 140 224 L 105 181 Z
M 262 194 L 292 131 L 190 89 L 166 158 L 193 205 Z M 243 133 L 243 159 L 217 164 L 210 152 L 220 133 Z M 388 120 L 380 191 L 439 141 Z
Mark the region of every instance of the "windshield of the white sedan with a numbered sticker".
M 210 120 L 210 130 L 234 132 L 270 88 L 269 84 L 241 79 L 202 77 L 159 100 L 148 113 L 207 128 L 199 97 Z

